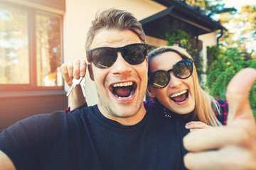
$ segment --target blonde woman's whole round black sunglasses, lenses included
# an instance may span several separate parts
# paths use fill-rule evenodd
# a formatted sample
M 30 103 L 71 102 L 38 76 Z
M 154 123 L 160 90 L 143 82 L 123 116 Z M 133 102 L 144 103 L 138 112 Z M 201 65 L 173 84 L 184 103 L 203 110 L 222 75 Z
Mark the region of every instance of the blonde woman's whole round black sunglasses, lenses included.
M 149 84 L 153 85 L 157 89 L 164 88 L 169 84 L 171 79 L 170 72 L 174 72 L 175 77 L 179 79 L 187 79 L 193 72 L 193 60 L 185 59 L 177 62 L 173 69 L 169 69 L 167 72 L 164 70 L 157 70 L 149 75 Z

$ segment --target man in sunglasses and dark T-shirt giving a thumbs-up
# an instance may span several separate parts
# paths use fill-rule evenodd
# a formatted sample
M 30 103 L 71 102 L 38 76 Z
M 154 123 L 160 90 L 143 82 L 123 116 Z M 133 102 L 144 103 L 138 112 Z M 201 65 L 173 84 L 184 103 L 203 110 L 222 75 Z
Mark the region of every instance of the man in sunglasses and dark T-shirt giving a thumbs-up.
M 186 121 L 166 119 L 146 112 L 143 106 L 145 42 L 141 26 L 130 13 L 113 9 L 101 13 L 92 23 L 86 45 L 99 103 L 72 114 L 37 115 L 4 130 L 0 135 L 1 169 L 185 169 L 182 139 L 188 133 Z M 185 157 L 188 168 L 234 169 L 233 164 L 240 169 L 245 164 L 255 168 L 255 130 L 247 127 L 255 128 L 255 121 L 243 93 L 255 81 L 256 70 L 247 69 L 235 78 L 228 98 L 230 115 L 234 115 L 231 127 L 214 128 L 213 135 L 200 130 L 186 136 L 184 145 L 191 151 Z M 237 79 L 241 78 L 245 89 L 238 91 L 241 81 Z M 237 106 L 230 101 L 233 98 Z M 238 151 L 244 162 L 230 158 Z M 229 162 L 225 162 L 227 157 Z

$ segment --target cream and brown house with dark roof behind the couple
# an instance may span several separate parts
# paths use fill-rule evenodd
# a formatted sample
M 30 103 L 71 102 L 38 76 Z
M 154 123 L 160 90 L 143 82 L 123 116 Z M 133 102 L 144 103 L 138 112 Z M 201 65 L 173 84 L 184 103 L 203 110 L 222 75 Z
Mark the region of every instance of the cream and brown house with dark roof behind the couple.
M 68 107 L 60 65 L 86 60 L 87 30 L 95 13 L 107 8 L 133 13 L 154 47 L 166 45 L 164 32 L 174 26 L 171 22 L 191 28 L 204 58 L 206 47 L 217 44 L 221 26 L 181 1 L 0 0 L 0 131 L 30 115 Z M 152 28 L 154 23 L 163 26 Z M 88 74 L 85 78 L 87 103 L 94 105 L 95 84 Z

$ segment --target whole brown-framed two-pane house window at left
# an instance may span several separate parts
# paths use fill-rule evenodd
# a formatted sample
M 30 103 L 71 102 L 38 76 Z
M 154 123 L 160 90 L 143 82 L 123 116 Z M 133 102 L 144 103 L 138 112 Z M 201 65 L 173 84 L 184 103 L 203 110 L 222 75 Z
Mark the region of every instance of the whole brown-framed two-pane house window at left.
M 0 4 L 0 90 L 63 89 L 62 16 Z

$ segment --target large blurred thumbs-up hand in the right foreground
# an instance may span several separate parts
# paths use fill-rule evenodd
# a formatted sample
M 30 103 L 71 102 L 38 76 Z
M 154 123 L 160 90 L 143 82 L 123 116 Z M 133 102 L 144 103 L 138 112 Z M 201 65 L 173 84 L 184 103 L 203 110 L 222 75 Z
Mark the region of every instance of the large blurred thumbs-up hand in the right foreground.
M 228 84 L 228 123 L 183 138 L 188 169 L 256 169 L 256 124 L 249 93 L 256 69 L 242 69 Z M 234 161 L 235 160 L 235 161 Z

